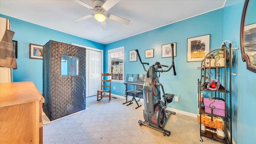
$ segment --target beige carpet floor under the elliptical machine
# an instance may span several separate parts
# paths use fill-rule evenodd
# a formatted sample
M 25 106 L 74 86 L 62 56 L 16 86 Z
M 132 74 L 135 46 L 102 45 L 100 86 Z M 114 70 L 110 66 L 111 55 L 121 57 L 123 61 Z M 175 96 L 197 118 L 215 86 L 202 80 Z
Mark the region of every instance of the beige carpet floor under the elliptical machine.
M 138 120 L 144 121 L 143 99 L 137 109 L 135 102 L 129 106 L 123 102 L 122 98 L 86 98 L 87 110 L 44 124 L 43 144 L 220 144 L 204 137 L 200 142 L 197 119 L 178 113 L 166 123 L 170 136 L 139 126 Z

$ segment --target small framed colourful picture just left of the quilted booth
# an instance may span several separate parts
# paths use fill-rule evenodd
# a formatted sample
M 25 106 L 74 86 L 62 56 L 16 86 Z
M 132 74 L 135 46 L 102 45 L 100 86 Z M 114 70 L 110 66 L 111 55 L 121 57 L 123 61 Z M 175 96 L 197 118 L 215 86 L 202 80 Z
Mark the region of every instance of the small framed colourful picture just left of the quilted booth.
M 29 44 L 29 58 L 43 59 L 43 46 Z

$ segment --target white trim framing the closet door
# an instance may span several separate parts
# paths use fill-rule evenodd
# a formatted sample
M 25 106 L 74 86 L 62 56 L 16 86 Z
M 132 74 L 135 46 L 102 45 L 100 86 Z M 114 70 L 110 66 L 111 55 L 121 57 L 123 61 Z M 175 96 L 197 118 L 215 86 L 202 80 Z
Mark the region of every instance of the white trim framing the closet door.
M 100 49 L 97 49 L 97 48 L 91 48 L 91 47 L 88 47 L 88 46 L 83 46 L 83 45 L 80 45 L 80 44 L 74 44 L 74 43 L 71 43 L 72 45 L 74 46 L 79 46 L 79 47 L 82 47 L 82 48 L 86 48 L 88 50 L 94 50 L 94 51 L 98 51 L 98 52 L 101 52 L 101 72 L 103 72 L 103 50 L 100 50 Z M 88 52 L 86 52 L 86 67 L 87 67 L 87 64 L 88 64 Z M 89 84 L 89 69 L 86 68 L 86 97 L 89 96 L 89 88 L 88 88 L 88 84 Z M 100 86 L 99 86 L 100 87 Z

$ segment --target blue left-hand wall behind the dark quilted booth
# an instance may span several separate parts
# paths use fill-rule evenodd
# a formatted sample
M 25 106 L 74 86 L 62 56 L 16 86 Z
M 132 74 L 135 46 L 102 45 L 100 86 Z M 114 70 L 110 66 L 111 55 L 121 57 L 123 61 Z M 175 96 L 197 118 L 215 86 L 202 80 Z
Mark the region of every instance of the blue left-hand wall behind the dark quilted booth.
M 12 30 L 15 32 L 12 40 L 18 41 L 17 69 L 13 70 L 13 81 L 32 81 L 42 94 L 42 67 L 43 60 L 29 58 L 29 44 L 44 45 L 49 40 L 63 42 L 66 44 L 80 44 L 92 48 L 103 50 L 104 45 L 77 36 L 72 36 L 63 32 L 45 28 L 36 24 L 18 20 L 0 14 L 2 18 L 9 18 Z

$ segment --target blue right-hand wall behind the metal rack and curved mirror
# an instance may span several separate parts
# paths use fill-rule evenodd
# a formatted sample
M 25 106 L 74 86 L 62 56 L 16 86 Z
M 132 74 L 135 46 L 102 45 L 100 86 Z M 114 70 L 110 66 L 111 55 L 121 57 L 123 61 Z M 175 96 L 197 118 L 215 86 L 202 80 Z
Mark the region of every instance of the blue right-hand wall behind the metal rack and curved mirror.
M 237 0 L 224 7 L 224 40 L 230 40 L 234 46 L 240 48 L 240 22 L 244 7 L 244 0 Z M 254 11 L 256 10 L 254 2 Z M 256 11 L 255 11 L 256 12 Z M 254 13 L 254 18 L 255 18 Z M 232 127 L 236 144 L 254 144 L 256 141 L 256 73 L 246 69 L 246 62 L 242 62 L 241 50 L 233 51 L 232 72 Z M 253 122 L 252 122 L 253 121 Z

